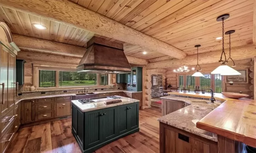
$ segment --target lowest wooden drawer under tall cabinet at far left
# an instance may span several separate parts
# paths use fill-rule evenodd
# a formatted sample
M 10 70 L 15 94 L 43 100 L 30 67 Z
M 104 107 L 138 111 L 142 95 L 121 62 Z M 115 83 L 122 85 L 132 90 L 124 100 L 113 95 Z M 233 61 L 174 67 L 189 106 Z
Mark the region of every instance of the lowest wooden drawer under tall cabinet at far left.
M 10 125 L 8 126 L 8 130 L 2 135 L 1 138 L 1 150 L 2 153 L 6 152 L 6 149 L 8 148 L 10 142 L 14 138 L 14 129 L 13 129 L 13 120 L 10 122 Z

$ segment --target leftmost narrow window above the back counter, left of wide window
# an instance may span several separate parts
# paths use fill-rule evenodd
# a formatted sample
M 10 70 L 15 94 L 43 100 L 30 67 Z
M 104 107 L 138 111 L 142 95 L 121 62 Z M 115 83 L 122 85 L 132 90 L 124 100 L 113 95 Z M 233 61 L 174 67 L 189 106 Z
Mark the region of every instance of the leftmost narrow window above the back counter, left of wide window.
M 55 87 L 55 72 L 39 70 L 39 87 Z

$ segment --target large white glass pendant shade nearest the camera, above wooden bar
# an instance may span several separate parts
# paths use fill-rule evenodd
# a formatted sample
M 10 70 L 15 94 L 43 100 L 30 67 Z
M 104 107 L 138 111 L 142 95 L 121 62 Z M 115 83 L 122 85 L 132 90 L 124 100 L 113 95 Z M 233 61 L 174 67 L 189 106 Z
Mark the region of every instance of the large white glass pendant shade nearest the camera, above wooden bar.
M 221 75 L 241 75 L 237 70 L 222 64 L 211 72 L 211 74 L 221 74 Z

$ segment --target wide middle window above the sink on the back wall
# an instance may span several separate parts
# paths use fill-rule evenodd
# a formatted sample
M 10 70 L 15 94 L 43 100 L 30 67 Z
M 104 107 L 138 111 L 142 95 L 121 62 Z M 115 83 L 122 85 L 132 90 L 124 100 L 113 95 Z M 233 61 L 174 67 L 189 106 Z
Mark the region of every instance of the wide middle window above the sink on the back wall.
M 59 86 L 92 86 L 97 85 L 96 73 L 79 73 L 59 71 Z

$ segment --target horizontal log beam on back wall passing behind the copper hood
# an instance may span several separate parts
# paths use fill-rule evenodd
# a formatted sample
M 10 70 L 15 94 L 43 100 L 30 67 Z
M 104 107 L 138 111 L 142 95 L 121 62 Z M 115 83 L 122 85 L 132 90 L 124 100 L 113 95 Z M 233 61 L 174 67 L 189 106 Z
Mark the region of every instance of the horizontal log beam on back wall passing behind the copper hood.
M 14 43 L 25 51 L 33 51 L 38 53 L 61 55 L 81 59 L 86 51 L 86 48 L 69 45 L 64 43 L 58 43 L 56 41 L 44 40 L 39 38 L 33 38 L 23 35 L 12 34 Z M 127 60 L 131 64 L 146 65 L 147 60 L 126 56 Z

